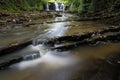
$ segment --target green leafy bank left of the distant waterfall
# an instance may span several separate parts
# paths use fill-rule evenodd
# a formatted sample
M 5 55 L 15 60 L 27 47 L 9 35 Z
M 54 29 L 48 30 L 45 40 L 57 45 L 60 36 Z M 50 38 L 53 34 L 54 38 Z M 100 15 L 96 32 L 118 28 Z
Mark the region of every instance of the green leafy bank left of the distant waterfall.
M 0 10 L 42 10 L 44 2 L 44 0 L 0 0 Z

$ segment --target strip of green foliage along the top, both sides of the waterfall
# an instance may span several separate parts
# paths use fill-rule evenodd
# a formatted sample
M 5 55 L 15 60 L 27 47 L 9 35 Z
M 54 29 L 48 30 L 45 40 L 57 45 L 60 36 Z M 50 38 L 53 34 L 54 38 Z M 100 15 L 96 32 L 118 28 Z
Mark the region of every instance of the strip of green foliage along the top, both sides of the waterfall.
M 0 9 L 9 11 L 43 10 L 43 4 L 49 1 L 64 3 L 70 11 L 79 13 L 113 11 L 116 7 L 120 7 L 120 0 L 2 0 Z

